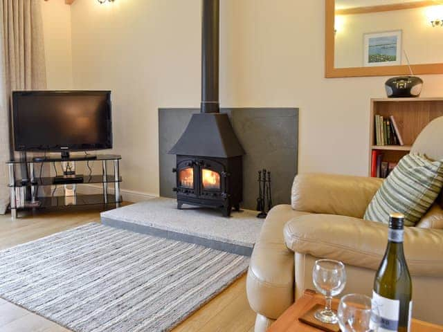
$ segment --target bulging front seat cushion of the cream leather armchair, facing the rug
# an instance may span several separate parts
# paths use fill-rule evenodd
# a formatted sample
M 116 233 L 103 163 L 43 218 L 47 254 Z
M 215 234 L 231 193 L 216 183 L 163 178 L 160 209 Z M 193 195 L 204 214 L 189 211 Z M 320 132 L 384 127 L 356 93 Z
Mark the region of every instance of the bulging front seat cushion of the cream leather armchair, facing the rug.
M 246 291 L 256 313 L 277 319 L 293 304 L 293 252 L 284 244 L 283 228 L 287 221 L 308 214 L 278 205 L 269 211 L 255 243 L 248 270 Z

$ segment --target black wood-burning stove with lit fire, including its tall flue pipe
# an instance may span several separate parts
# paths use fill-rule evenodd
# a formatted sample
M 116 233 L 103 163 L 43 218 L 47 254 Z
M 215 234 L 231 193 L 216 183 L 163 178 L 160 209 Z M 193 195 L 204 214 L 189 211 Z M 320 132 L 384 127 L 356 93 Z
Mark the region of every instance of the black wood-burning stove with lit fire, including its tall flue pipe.
M 219 113 L 219 0 L 203 0 L 201 75 L 201 113 L 169 151 L 177 155 L 177 208 L 219 208 L 229 216 L 242 201 L 244 149 Z

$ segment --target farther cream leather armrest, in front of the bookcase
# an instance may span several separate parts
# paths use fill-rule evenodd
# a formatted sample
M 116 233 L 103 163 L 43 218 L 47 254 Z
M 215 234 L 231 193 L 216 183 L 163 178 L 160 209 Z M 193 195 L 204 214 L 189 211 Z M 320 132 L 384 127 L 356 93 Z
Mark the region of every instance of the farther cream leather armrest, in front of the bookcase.
M 362 218 L 381 178 L 332 174 L 300 174 L 294 178 L 293 210 Z

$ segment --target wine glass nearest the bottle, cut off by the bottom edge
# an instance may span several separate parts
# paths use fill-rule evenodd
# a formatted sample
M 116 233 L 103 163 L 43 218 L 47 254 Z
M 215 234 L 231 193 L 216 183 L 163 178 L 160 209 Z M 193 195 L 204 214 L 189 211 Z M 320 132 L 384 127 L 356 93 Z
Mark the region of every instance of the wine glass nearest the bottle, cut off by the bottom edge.
M 341 298 L 337 310 L 342 332 L 374 332 L 379 328 L 379 308 L 366 295 L 348 294 Z

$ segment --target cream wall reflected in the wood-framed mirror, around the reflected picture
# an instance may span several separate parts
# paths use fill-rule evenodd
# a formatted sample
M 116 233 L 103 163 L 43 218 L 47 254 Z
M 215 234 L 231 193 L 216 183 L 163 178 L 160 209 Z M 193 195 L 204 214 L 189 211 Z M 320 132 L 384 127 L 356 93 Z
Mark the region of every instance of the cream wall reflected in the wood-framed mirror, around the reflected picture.
M 363 66 L 363 34 L 392 30 L 401 30 L 401 47 L 408 53 L 411 64 L 442 62 L 442 28 L 433 28 L 428 18 L 430 12 L 431 8 L 422 7 L 340 15 L 338 19 L 341 24 L 337 26 L 335 37 L 335 66 L 337 68 Z M 401 63 L 407 64 L 403 54 Z

